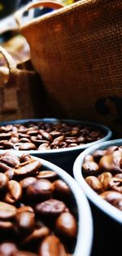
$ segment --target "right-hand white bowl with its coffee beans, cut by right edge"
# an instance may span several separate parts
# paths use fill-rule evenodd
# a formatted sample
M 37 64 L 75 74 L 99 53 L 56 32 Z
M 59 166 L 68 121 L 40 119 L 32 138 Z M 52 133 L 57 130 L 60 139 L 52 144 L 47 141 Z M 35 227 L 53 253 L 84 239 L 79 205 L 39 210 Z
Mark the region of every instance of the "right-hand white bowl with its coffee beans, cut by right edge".
M 122 139 L 87 148 L 76 158 L 73 172 L 89 200 L 122 223 Z

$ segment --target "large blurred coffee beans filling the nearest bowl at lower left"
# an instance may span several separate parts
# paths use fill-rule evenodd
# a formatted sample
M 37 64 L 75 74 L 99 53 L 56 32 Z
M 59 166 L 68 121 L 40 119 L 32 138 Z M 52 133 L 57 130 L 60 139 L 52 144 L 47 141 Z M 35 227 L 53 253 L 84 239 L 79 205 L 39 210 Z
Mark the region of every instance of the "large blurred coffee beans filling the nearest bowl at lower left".
M 0 255 L 69 256 L 77 206 L 68 184 L 40 159 L 0 155 Z

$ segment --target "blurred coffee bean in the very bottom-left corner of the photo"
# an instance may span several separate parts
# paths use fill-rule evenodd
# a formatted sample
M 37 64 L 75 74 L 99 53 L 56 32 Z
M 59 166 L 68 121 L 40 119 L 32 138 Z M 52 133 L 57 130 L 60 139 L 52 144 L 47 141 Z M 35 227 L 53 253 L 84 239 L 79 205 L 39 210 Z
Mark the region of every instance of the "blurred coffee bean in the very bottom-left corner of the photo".
M 3 256 L 11 256 L 15 251 L 17 251 L 17 247 L 12 242 L 4 242 L 0 244 L 0 254 Z

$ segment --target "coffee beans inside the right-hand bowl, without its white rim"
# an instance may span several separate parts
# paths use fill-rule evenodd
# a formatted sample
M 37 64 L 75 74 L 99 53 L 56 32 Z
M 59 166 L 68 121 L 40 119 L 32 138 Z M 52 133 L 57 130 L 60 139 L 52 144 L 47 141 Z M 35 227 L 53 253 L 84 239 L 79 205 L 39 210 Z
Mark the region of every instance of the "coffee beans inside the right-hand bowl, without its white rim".
M 87 155 L 82 168 L 89 186 L 122 210 L 122 146 L 111 146 Z

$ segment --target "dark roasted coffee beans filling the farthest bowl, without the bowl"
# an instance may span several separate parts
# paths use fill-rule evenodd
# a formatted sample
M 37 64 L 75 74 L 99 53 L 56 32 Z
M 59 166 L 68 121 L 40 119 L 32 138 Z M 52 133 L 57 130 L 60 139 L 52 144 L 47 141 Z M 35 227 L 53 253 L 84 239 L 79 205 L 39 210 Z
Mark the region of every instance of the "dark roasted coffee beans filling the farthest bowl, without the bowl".
M 66 122 L 26 122 L 0 126 L 0 149 L 48 150 L 71 148 L 102 139 L 98 127 Z

